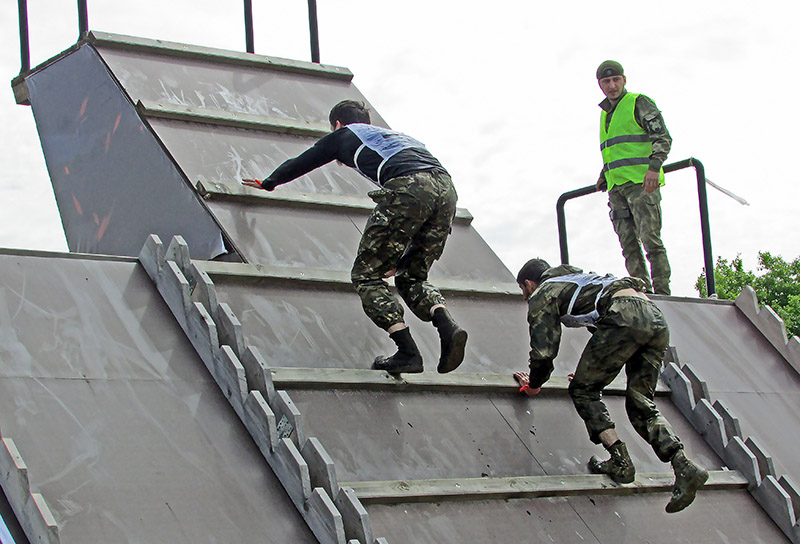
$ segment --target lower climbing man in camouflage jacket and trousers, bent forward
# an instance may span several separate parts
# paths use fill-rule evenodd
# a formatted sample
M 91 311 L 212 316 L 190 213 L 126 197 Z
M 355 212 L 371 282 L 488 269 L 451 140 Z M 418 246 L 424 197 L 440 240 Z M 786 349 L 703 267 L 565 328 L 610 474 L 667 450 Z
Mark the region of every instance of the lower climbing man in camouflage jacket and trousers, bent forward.
M 671 462 L 675 485 L 667 512 L 683 510 L 708 479 L 708 472 L 689 460 L 683 444 L 656 408 L 653 398 L 661 361 L 669 343 L 669 328 L 658 307 L 642 293 L 639 278 L 584 274 L 569 265 L 550 267 L 531 259 L 517 275 L 528 301 L 530 373 L 514 377 L 529 396 L 539 393 L 553 372 L 561 342 L 561 325 L 590 327 L 586 344 L 569 385 L 575 409 L 586 424 L 589 439 L 603 444 L 610 458 L 589 460 L 589 469 L 619 483 L 631 483 L 636 469 L 625 443 L 603 403 L 603 389 L 625 367 L 628 387 L 625 409 L 636 432 L 663 462 Z

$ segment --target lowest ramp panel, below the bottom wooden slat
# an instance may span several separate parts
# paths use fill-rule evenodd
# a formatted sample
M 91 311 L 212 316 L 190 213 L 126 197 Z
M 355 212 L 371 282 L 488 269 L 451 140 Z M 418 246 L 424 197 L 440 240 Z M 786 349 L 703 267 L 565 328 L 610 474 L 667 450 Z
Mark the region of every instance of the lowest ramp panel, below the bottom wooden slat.
M 773 544 L 788 542 L 746 491 L 701 491 L 679 514 L 666 493 L 368 506 L 392 544 L 570 542 Z M 735 512 L 735 515 L 732 513 Z

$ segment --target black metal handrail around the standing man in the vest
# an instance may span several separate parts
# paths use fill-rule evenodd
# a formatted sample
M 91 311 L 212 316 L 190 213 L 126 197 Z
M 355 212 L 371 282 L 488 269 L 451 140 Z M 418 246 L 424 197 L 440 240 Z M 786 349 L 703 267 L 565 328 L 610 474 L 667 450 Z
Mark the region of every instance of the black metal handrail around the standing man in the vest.
M 700 231 L 703 236 L 703 258 L 706 271 L 706 291 L 709 297 L 717 294 L 714 281 L 714 260 L 711 252 L 711 226 L 708 220 L 708 195 L 706 193 L 706 174 L 703 163 L 694 157 L 686 160 L 664 165 L 664 173 L 674 172 L 683 168 L 693 167 L 697 174 L 697 199 L 700 205 Z M 564 214 L 564 205 L 568 200 L 578 198 L 588 194 L 596 193 L 599 189 L 596 185 L 589 185 L 573 191 L 568 191 L 558 197 L 556 203 L 556 219 L 558 221 L 558 245 L 561 249 L 561 263 L 569 264 L 569 250 L 567 248 L 567 221 Z

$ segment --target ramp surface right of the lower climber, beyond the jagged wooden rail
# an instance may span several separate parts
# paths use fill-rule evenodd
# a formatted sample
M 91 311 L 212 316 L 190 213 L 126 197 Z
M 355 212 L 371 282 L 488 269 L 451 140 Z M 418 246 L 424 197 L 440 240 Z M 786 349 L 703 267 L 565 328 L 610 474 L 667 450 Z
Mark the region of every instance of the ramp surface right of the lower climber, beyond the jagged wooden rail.
M 727 302 L 659 299 L 681 363 L 708 384 L 773 457 L 778 475 L 800 481 L 800 375 L 742 312 Z

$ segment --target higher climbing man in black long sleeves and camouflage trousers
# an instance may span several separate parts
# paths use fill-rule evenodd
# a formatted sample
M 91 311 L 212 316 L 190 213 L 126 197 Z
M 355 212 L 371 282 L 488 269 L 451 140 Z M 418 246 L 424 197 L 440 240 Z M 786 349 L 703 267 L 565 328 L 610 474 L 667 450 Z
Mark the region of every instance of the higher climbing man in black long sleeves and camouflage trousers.
M 361 236 L 351 279 L 367 316 L 389 333 L 398 350 L 390 357 L 377 357 L 372 368 L 393 374 L 423 371 L 419 349 L 403 321 L 403 308 L 385 281 L 394 275 L 395 286 L 414 315 L 432 321 L 439 332 L 437 370 L 451 372 L 464 359 L 467 332 L 427 281 L 456 213 L 458 195 L 450 175 L 421 142 L 371 125 L 369 110 L 361 102 L 340 102 L 329 120 L 332 132 L 313 147 L 281 164 L 267 179 L 242 183 L 272 191 L 333 160 L 375 183 L 379 188 L 369 196 L 376 206 Z

